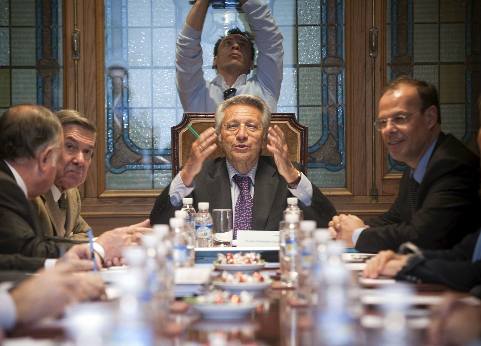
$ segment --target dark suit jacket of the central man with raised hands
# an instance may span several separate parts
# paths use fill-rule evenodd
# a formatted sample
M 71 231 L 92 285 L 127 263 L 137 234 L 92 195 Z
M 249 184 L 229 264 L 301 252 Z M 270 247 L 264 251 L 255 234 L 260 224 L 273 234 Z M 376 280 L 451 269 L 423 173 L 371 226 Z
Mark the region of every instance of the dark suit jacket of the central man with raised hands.
M 302 165 L 294 163 L 302 171 Z M 198 202 L 209 202 L 210 211 L 219 208 L 230 208 L 232 198 L 225 157 L 206 160 L 201 172 L 194 178 L 195 189 L 192 191 L 194 206 Z M 157 197 L 152 209 L 151 224 L 168 224 L 174 211 L 181 206 L 170 203 L 170 185 Z M 322 192 L 313 185 L 312 203 L 299 207 L 304 211 L 304 219 L 317 221 L 317 227 L 327 227 L 336 209 Z M 254 204 L 252 229 L 278 230 L 282 212 L 287 207 L 287 198 L 293 197 L 287 188 L 286 180 L 279 174 L 274 158 L 260 156 L 259 165 L 255 173 Z

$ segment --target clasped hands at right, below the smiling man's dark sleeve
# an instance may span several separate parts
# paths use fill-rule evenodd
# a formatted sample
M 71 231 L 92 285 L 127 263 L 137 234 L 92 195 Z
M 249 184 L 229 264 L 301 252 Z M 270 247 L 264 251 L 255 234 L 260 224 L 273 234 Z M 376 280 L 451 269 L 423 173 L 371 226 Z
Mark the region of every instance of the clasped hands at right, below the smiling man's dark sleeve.
M 363 277 L 376 279 L 380 275 L 396 276 L 406 260 L 407 255 L 399 255 L 392 250 L 379 251 L 378 256 L 367 262 Z

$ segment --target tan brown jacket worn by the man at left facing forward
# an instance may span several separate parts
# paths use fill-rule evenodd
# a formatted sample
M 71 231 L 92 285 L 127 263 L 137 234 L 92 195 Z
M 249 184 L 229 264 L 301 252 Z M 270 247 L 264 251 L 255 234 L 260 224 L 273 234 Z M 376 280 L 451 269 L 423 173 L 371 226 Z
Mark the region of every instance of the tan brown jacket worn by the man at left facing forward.
M 38 212 L 43 233 L 49 237 L 57 235 L 68 239 L 89 240 L 87 231 L 90 227 L 80 216 L 81 205 L 78 189 L 68 189 L 65 193 L 67 211 L 64 223 L 62 211 L 58 203 L 54 201 L 51 190 L 32 201 Z

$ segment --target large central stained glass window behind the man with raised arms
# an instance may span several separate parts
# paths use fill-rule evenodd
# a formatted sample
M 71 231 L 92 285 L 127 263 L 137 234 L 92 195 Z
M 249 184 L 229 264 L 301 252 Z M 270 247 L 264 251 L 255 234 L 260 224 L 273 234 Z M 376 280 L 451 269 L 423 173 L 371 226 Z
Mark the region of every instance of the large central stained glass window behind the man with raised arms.
M 344 2 L 263 0 L 284 36 L 278 111 L 309 126 L 308 176 L 345 186 Z M 162 189 L 171 180 L 170 127 L 182 119 L 175 47 L 187 0 L 105 0 L 106 186 Z M 209 7 L 203 27 L 204 77 L 215 78 L 214 44 L 246 16 Z

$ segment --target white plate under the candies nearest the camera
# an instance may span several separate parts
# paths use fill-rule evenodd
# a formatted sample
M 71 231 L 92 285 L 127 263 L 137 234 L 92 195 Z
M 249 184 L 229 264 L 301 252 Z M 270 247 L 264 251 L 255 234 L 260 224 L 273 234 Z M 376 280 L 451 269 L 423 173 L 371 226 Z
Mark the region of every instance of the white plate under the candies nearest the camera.
M 247 303 L 223 303 L 223 304 L 193 304 L 194 309 L 202 313 L 202 316 L 210 320 L 237 320 L 248 315 L 259 306 L 260 302 L 253 300 Z

